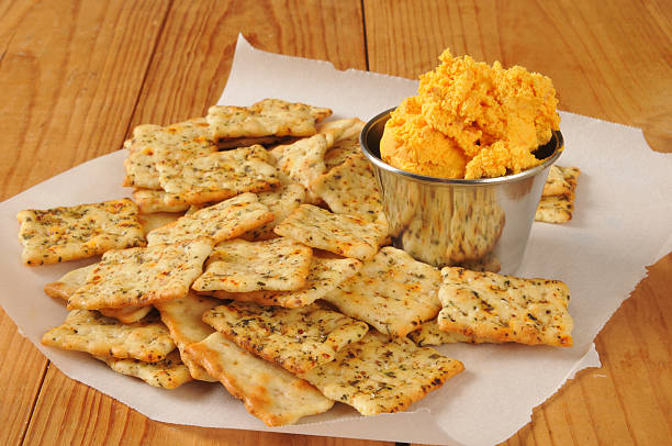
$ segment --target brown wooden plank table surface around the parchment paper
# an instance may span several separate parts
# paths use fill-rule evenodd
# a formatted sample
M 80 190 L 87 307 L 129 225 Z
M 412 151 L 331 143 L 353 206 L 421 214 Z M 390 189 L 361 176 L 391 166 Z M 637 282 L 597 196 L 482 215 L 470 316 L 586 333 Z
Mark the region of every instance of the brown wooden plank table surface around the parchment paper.
M 415 78 L 445 47 L 550 76 L 560 108 L 672 152 L 669 0 L 0 0 L 0 199 L 116 150 L 133 127 L 203 115 L 237 34 L 266 51 Z M 672 156 L 672 155 L 671 155 Z M 672 255 L 596 338 L 604 366 L 508 445 L 672 443 Z M 0 444 L 382 445 L 167 425 L 66 378 L 0 311 Z

